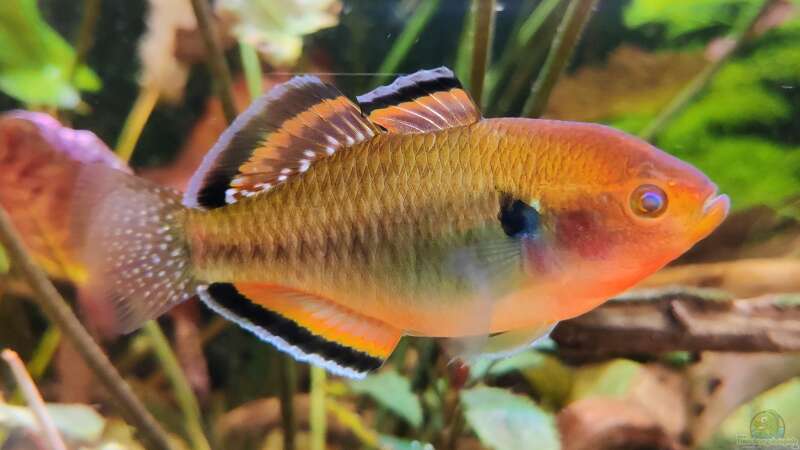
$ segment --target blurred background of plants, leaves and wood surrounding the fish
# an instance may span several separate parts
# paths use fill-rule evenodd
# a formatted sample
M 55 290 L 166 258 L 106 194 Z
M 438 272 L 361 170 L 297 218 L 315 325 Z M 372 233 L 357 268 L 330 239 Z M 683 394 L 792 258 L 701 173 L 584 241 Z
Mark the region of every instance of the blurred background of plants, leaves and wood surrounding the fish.
M 363 381 L 289 361 L 196 302 L 111 337 L 81 297 L 63 195 L 74 164 L 183 190 L 235 112 L 295 74 L 354 98 L 439 66 L 485 117 L 653 142 L 717 182 L 731 216 L 535 349 L 465 367 L 404 338 Z M 800 448 L 798 1 L 3 0 L 0 167 L 0 204 L 32 256 L 173 448 Z M 158 448 L 6 253 L 0 348 L 66 448 Z M 58 448 L 20 376 L 0 370 L 0 449 Z

